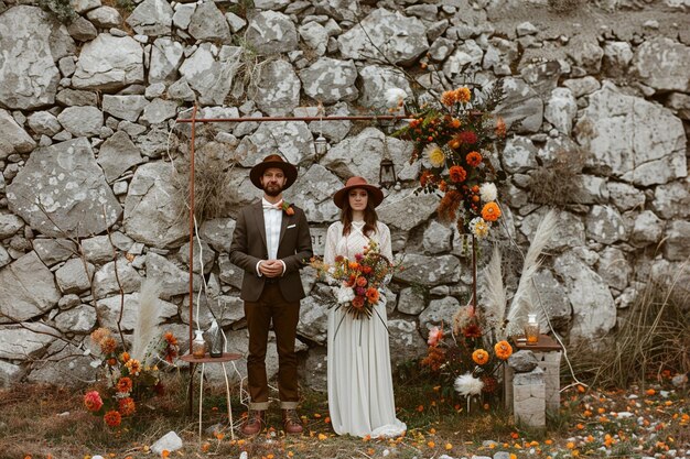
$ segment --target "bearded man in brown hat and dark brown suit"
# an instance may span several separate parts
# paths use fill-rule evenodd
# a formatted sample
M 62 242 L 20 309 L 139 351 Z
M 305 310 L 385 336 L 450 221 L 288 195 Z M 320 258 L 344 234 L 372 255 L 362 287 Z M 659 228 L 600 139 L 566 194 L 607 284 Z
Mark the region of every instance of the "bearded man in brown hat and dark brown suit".
M 278 394 L 287 434 L 301 434 L 297 414 L 298 359 L 294 352 L 300 299 L 304 289 L 299 270 L 312 256 L 312 240 L 302 209 L 282 199 L 298 170 L 277 154 L 251 168 L 249 178 L 263 190 L 260 201 L 240 209 L 237 216 L 230 261 L 245 270 L 240 297 L 249 329 L 249 416 L 241 431 L 261 431 L 268 408 L 266 349 L 273 324 L 278 347 Z

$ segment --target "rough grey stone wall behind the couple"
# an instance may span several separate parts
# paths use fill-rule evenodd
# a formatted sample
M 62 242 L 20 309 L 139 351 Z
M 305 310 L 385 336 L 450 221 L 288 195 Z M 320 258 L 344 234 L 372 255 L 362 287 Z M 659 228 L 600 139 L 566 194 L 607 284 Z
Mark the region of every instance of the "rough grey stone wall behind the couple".
M 175 120 L 194 102 L 206 118 L 313 116 L 317 101 L 328 114 L 384 113 L 387 88 L 412 91 L 399 68 L 436 90 L 468 74 L 505 78 L 499 111 L 514 133 L 495 162 L 509 177 L 498 241 L 506 251 L 515 250 L 509 239 L 525 249 L 547 211 L 533 199 L 536 172 L 575 165 L 576 193 L 554 197 L 561 225 L 537 276 L 569 342 L 611 337 L 651 281 L 681 275 L 687 288 L 688 0 L 570 2 L 571 11 L 547 0 L 247 3 L 142 0 L 128 12 L 73 0 L 76 19 L 64 25 L 31 2 L 0 0 L 0 381 L 93 378 L 80 342 L 115 326 L 116 269 L 125 331 L 141 280 L 157 277 L 164 327 L 186 349 L 188 232 L 171 160 L 188 150 L 188 125 Z M 379 217 L 408 266 L 388 298 L 396 361 L 423 352 L 428 327 L 468 299 L 462 240 L 434 220 L 434 197 L 412 195 L 411 145 L 390 138 L 390 127 L 223 123 L 200 132 L 200 147 L 220 145 L 235 192 L 227 215 L 201 225 L 204 271 L 198 264 L 195 275 L 223 312 L 230 350 L 247 348 L 241 272 L 227 254 L 233 217 L 259 195 L 249 167 L 276 150 L 300 166 L 287 198 L 306 210 L 316 251 L 337 218 L 333 190 L 355 174 L 378 182 L 390 152 L 400 182 Z M 323 157 L 312 143 L 320 133 L 330 143 Z M 484 245 L 481 264 L 488 253 Z M 303 277 L 302 374 L 323 389 L 333 298 L 311 270 Z

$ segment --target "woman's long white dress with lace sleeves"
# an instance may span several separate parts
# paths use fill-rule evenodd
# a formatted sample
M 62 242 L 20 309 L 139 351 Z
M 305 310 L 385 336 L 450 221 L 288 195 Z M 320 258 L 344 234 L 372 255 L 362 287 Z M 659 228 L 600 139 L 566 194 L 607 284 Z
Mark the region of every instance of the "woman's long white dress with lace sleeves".
M 344 237 L 342 222 L 331 225 L 324 262 L 332 264 L 336 255 L 354 260 L 355 254 L 362 253 L 368 244 L 363 226 L 364 222 L 353 222 L 351 233 Z M 391 260 L 388 227 L 379 222 L 371 239 L 379 243 L 381 254 Z M 338 435 L 397 437 L 407 430 L 405 423 L 396 418 L 382 293 L 375 309 L 378 315 L 375 313 L 369 319 L 353 319 L 343 308 L 328 310 L 328 411 Z

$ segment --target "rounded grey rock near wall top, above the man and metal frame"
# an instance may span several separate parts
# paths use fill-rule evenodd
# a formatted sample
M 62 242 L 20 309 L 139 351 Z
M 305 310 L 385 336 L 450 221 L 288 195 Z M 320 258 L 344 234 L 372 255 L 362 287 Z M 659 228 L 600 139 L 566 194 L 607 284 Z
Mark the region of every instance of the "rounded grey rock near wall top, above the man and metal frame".
M 260 54 L 288 53 L 298 47 L 294 23 L 278 11 L 261 11 L 251 18 L 245 37 Z

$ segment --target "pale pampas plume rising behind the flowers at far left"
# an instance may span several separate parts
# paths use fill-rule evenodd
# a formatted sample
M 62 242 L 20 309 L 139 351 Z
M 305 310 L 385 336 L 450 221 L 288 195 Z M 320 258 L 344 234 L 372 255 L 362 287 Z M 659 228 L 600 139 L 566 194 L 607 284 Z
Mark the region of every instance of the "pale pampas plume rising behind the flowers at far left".
M 132 336 L 132 359 L 147 363 L 151 356 L 148 354 L 149 346 L 157 338 L 158 324 L 160 323 L 162 305 L 159 300 L 161 283 L 157 280 L 145 278 L 141 282 L 139 292 L 139 309 L 137 310 L 137 324 Z

